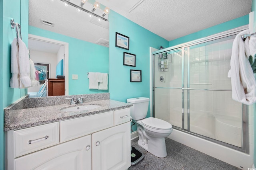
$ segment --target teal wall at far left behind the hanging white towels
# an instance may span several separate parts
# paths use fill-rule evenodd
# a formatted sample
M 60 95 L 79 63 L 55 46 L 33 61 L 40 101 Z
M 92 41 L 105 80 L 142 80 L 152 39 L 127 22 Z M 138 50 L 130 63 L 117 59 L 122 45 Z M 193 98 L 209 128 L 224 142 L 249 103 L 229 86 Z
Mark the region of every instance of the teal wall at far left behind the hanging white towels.
M 24 10 L 25 9 L 25 10 Z M 27 43 L 28 0 L 0 0 L 0 169 L 4 169 L 5 136 L 4 107 L 9 106 L 24 94 L 24 90 L 10 88 L 10 55 L 12 40 L 16 37 L 15 29 L 10 26 L 10 19 L 21 24 L 22 40 Z M 22 20 L 20 19 L 22 16 Z

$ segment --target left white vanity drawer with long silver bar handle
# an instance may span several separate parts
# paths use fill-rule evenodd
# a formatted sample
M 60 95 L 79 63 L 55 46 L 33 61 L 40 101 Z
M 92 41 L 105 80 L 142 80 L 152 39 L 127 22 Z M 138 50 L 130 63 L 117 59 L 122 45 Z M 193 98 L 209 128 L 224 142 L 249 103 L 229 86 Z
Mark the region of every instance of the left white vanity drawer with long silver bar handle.
M 57 144 L 58 132 L 58 122 L 14 131 L 14 156 L 22 156 Z

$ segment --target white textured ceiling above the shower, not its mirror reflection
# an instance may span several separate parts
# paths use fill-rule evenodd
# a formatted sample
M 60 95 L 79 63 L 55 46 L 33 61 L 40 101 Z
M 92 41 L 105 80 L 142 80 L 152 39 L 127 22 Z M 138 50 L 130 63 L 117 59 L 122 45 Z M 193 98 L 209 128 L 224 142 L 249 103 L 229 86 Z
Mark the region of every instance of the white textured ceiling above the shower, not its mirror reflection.
M 168 41 L 247 15 L 252 6 L 252 0 L 144 0 L 128 13 L 120 1 L 126 0 L 98 0 Z

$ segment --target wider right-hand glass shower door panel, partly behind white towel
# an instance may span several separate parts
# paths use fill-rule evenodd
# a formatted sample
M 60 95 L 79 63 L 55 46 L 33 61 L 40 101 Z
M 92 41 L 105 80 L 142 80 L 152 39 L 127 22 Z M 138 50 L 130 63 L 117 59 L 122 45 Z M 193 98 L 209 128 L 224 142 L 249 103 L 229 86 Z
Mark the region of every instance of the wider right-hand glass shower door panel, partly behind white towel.
M 188 131 L 242 147 L 242 104 L 228 78 L 233 36 L 184 48 Z

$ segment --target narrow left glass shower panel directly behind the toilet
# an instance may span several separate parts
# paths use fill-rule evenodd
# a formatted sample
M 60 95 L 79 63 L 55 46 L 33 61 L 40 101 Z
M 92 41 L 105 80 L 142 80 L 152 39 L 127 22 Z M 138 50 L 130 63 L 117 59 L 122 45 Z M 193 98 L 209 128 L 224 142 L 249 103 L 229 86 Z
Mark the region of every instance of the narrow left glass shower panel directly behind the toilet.
M 182 128 L 182 50 L 154 55 L 155 117 Z

